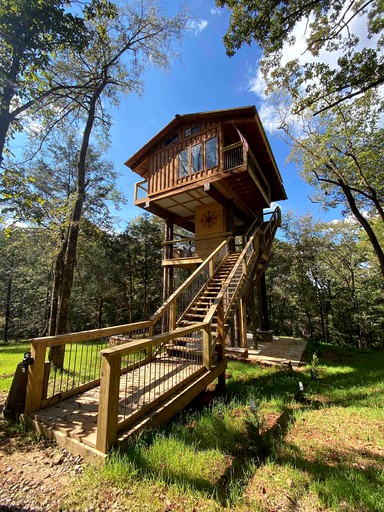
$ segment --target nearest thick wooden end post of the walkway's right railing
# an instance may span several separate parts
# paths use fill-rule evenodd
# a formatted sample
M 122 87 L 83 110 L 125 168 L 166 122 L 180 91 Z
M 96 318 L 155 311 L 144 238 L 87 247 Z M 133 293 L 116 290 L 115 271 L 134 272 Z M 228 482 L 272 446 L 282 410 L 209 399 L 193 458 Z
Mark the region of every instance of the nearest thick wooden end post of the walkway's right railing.
M 121 354 L 101 353 L 96 449 L 107 453 L 117 441 Z

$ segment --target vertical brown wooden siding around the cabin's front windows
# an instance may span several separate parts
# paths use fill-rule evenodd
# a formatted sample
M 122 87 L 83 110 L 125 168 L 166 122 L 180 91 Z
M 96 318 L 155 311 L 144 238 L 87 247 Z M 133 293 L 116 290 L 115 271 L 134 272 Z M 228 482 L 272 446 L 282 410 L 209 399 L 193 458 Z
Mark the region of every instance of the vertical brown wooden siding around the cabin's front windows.
M 194 125 L 196 126 L 196 125 Z M 148 195 L 149 197 L 158 193 L 164 193 L 177 187 L 182 187 L 188 183 L 203 180 L 220 169 L 220 147 L 221 147 L 221 130 L 220 124 L 217 122 L 207 122 L 199 124 L 200 131 L 196 135 L 184 137 L 185 130 L 188 125 L 181 125 L 178 129 L 178 142 L 165 146 L 165 141 L 159 142 L 151 151 L 149 157 L 149 173 L 148 173 Z M 203 169 L 199 172 L 189 174 L 188 176 L 178 177 L 178 155 L 180 151 L 189 146 L 198 143 L 204 143 L 212 137 L 218 139 L 218 166 L 210 169 Z

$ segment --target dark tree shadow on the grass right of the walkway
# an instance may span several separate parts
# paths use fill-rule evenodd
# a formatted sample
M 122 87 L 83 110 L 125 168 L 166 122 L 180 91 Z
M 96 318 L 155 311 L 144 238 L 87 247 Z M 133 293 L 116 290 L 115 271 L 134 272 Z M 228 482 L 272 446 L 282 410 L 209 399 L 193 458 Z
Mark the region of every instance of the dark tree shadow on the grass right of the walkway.
M 302 471 L 307 471 L 312 482 L 319 485 L 317 492 L 324 502 L 327 502 L 327 499 L 329 502 L 329 496 L 332 494 L 335 495 L 335 499 L 340 497 L 340 500 L 342 496 L 345 498 L 350 495 L 350 503 L 363 503 L 371 507 L 367 510 L 376 510 L 372 508 L 367 489 L 377 486 L 380 478 L 383 479 L 383 474 L 380 477 L 379 472 L 369 467 L 362 473 L 351 468 L 349 472 L 340 473 L 338 478 L 337 462 L 333 465 L 327 464 L 326 459 L 310 462 L 300 453 L 295 453 L 287 459 L 280 456 L 289 446 L 285 444 L 286 435 L 298 411 L 350 405 L 351 397 L 348 398 L 348 393 L 338 398 L 337 394 L 332 394 L 334 390 L 341 390 L 343 393 L 349 389 L 356 390 L 355 394 L 352 393 L 353 404 L 361 402 L 364 406 L 369 386 L 377 386 L 378 396 L 384 392 L 384 354 L 380 354 L 380 357 L 375 356 L 375 362 L 370 364 L 372 353 L 356 353 L 352 350 L 345 354 L 343 359 L 342 351 L 338 354 L 337 350 L 331 350 L 328 354 L 327 350 L 326 347 L 322 347 L 320 364 L 325 370 L 318 380 L 310 378 L 309 369 L 294 372 L 289 368 L 276 368 L 266 373 L 257 370 L 256 367 L 253 371 L 247 363 L 234 365 L 236 372 L 233 373 L 237 373 L 237 376 L 229 379 L 225 400 L 216 401 L 198 413 L 181 413 L 171 425 L 152 433 L 145 433 L 140 441 L 132 442 L 125 452 L 122 452 L 122 456 L 125 456 L 134 470 L 143 477 L 150 475 L 154 480 L 203 492 L 209 497 L 214 497 L 222 506 L 234 505 L 236 500 L 244 495 L 255 470 L 269 459 L 273 459 L 277 464 L 290 463 Z M 336 371 L 327 373 L 327 368 L 334 368 Z M 231 369 L 229 371 L 231 372 Z M 304 392 L 300 391 L 299 382 L 304 384 Z M 327 399 L 319 400 L 319 395 L 326 395 Z M 253 400 L 258 403 L 275 401 L 273 407 L 277 412 L 273 424 L 263 426 L 258 412 L 250 411 L 250 403 Z M 239 427 L 239 423 L 242 427 Z M 198 471 L 189 471 L 189 468 L 183 471 L 177 463 L 173 465 L 168 461 L 166 453 L 163 462 L 157 460 L 153 463 L 147 454 L 159 438 L 177 440 L 182 447 L 184 446 L 185 452 L 190 450 L 192 455 L 195 454 L 196 461 L 203 452 L 217 450 L 225 457 L 225 464 L 217 464 L 213 455 L 212 471 L 207 476 L 199 474 Z M 181 448 L 180 458 L 182 457 Z M 193 464 L 192 457 L 190 465 Z M 360 491 L 352 489 L 354 481 L 360 482 L 357 486 L 361 487 Z M 362 495 L 360 502 L 359 493 Z

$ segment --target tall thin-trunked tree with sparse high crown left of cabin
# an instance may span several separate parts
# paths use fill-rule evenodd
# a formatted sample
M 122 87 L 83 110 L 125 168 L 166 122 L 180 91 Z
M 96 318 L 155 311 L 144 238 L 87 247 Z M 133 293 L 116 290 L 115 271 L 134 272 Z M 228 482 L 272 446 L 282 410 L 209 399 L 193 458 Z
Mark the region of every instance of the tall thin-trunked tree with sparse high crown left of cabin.
M 61 117 L 77 124 L 82 135 L 68 230 L 58 260 L 62 264 L 55 269 L 60 290 L 57 311 L 51 316 L 50 334 L 67 331 L 91 137 L 98 130 L 108 132 L 110 119 L 105 106 L 116 104 L 119 94 L 139 91 L 141 74 L 149 63 L 168 67 L 175 54 L 174 42 L 181 37 L 187 20 L 186 11 L 168 18 L 151 0 L 121 4 L 113 16 L 103 10 L 87 22 L 89 41 L 85 50 L 68 52 L 56 61 L 55 80 L 57 84 L 66 84 L 66 91 L 55 96 L 53 110 L 44 111 L 43 126 L 48 130 L 59 126 L 55 120 L 59 108 Z M 59 360 L 57 365 L 60 366 Z

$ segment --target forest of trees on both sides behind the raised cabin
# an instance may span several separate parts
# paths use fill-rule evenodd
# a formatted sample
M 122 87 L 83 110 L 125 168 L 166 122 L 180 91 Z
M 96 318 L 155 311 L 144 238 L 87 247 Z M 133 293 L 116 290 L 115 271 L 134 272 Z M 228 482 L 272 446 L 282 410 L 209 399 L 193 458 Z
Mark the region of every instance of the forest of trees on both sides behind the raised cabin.
M 302 7 L 292 26 L 312 19 L 310 53 L 327 44 L 329 51 L 347 48 L 344 69 L 354 64 L 354 74 L 279 61 L 289 29 L 277 37 L 271 26 L 275 39 L 268 39 L 257 33 L 250 2 L 217 3 L 233 16 L 228 54 L 257 35 L 271 105 L 316 200 L 344 212 L 328 223 L 284 215 L 267 270 L 270 327 L 279 336 L 384 349 L 382 55 L 364 53 L 355 38 L 337 38 L 348 17 L 338 2 L 321 2 L 318 12 Z M 171 67 L 196 20 L 187 10 L 167 16 L 147 0 L 71 2 L 72 10 L 67 4 L 7 0 L 0 7 L 4 342 L 144 320 L 162 301 L 163 223 L 143 215 L 115 231 L 111 208 L 124 197 L 104 155 L 110 109 L 142 90 L 149 63 Z M 365 16 L 379 48 L 380 9 L 358 4 L 351 4 L 351 19 Z M 276 13 L 272 21 L 284 26 L 284 12 Z M 362 75 L 365 81 L 357 79 Z M 21 131 L 29 136 L 22 158 L 12 154 L 12 137 Z M 184 279 L 180 271 L 176 280 Z

